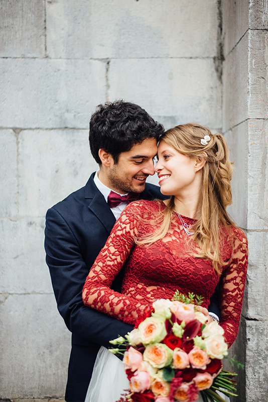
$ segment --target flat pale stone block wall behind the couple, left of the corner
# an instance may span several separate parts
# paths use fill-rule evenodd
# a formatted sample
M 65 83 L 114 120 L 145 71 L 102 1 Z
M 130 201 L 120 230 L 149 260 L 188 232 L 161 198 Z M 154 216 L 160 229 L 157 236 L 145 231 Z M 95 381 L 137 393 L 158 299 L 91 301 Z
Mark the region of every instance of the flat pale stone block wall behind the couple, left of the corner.
M 45 263 L 46 210 L 96 170 L 99 103 L 221 129 L 218 2 L 2 0 L 0 15 L 0 398 L 60 398 L 70 334 Z

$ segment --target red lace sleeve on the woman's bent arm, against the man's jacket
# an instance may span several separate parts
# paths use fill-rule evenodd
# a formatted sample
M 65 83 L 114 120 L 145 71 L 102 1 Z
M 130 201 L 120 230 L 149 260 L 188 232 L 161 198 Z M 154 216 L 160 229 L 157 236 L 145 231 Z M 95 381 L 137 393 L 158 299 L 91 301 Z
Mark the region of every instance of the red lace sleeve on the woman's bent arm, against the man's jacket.
M 97 256 L 82 292 L 85 305 L 129 324 L 135 324 L 146 306 L 134 297 L 110 289 L 110 285 L 135 245 L 139 206 L 140 202 L 131 203 L 122 212 Z

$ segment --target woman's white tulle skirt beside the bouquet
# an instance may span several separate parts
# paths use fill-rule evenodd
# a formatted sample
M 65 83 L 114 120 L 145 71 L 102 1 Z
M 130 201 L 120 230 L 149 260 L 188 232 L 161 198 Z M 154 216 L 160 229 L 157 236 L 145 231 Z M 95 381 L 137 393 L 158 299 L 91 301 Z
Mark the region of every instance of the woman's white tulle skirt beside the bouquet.
M 101 346 L 94 364 L 85 402 L 115 402 L 120 399 L 125 389 L 129 389 L 129 382 L 123 362 Z M 230 400 L 222 393 L 220 396 L 226 401 Z M 196 402 L 203 402 L 201 395 Z

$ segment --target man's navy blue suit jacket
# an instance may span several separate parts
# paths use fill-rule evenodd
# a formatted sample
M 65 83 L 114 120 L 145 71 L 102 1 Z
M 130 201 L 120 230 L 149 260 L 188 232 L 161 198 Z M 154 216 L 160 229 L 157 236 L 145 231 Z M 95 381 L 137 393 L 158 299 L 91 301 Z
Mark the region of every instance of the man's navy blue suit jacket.
M 132 326 L 84 306 L 82 288 L 89 269 L 115 223 L 114 215 L 95 186 L 86 185 L 50 208 L 46 216 L 45 249 L 58 310 L 72 332 L 66 401 L 84 401 L 100 345 L 125 335 Z M 162 198 L 159 187 L 146 184 L 143 199 Z M 120 291 L 123 270 L 112 288 Z M 216 296 L 215 296 L 216 297 Z M 210 311 L 218 314 L 217 300 Z

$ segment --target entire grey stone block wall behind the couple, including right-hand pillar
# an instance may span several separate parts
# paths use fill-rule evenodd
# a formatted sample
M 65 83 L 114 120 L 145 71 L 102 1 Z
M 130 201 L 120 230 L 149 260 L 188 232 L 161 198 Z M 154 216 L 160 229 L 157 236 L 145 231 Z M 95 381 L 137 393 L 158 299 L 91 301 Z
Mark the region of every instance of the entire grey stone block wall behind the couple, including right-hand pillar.
M 123 98 L 166 128 L 197 121 L 230 142 L 233 217 L 251 246 L 241 336 L 253 400 L 264 372 L 251 364 L 265 339 L 256 335 L 267 331 L 266 10 L 252 0 L 2 0 L 0 398 L 64 395 L 70 334 L 45 264 L 45 213 L 96 169 L 87 141 L 95 106 Z

